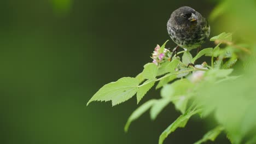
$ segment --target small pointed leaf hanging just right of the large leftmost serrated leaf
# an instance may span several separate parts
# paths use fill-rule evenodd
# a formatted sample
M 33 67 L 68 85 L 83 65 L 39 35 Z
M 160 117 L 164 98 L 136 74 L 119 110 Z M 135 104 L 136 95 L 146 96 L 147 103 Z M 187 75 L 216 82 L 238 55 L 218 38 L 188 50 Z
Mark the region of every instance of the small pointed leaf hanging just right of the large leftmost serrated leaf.
M 141 101 L 141 99 L 149 91 L 149 89 L 154 86 L 154 84 L 155 84 L 155 79 L 147 80 L 141 86 L 139 86 L 139 89 L 137 92 L 137 104 L 139 103 L 139 101 Z

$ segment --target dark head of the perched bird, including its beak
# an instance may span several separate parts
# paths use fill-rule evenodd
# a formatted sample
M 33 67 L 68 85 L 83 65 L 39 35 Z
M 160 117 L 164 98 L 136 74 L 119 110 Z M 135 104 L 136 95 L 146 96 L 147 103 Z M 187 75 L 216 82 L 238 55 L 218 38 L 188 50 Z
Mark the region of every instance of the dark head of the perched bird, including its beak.
M 182 24 L 196 24 L 199 17 L 197 16 L 197 12 L 190 7 L 181 7 L 172 13 L 173 19 L 176 21 L 178 25 Z

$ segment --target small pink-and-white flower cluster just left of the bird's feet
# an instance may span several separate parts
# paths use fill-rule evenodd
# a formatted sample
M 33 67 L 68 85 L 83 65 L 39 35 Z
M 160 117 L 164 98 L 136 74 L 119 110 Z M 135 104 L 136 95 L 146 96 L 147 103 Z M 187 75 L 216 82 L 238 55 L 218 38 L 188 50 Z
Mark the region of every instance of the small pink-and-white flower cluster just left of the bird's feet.
M 160 52 L 161 47 L 156 45 L 154 52 L 152 53 L 153 63 L 158 65 L 163 62 L 165 59 L 170 61 L 171 52 L 168 49 L 164 49 L 163 52 Z

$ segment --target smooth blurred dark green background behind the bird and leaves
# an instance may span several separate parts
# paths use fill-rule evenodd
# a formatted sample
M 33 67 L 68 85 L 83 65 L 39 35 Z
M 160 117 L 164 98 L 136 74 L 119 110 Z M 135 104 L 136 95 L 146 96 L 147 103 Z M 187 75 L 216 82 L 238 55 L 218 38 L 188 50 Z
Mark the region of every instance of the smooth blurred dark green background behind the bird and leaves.
M 155 45 L 170 39 L 166 22 L 173 10 L 187 5 L 208 17 L 216 4 L 1 1 L 1 143 L 157 143 L 180 115 L 173 105 L 154 122 L 143 115 L 124 133 L 124 124 L 137 107 L 135 98 L 115 107 L 110 102 L 88 107 L 86 103 L 104 84 L 136 76 L 152 61 Z M 211 23 L 211 36 L 222 28 Z M 159 91 L 150 91 L 141 104 L 152 98 L 160 98 Z M 194 118 L 165 143 L 195 142 L 209 128 Z M 209 143 L 229 142 L 222 135 Z

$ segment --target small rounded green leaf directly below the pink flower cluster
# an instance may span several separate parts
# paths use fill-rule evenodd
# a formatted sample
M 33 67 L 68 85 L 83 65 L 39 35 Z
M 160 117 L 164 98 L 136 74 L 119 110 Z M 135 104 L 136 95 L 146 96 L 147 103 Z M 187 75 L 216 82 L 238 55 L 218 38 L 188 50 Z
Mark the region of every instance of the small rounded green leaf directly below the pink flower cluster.
M 158 66 L 154 63 L 147 63 L 144 65 L 142 75 L 144 79 L 154 79 L 158 74 Z

